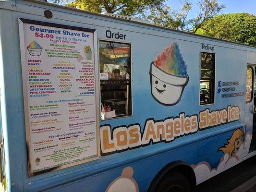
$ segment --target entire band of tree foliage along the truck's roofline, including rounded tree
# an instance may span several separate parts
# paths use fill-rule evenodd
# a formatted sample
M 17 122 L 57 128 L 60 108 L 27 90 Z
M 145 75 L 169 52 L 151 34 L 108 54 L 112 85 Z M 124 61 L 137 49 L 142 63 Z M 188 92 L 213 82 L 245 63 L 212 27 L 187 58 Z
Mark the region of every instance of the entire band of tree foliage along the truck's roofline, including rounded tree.
M 248 13 L 218 15 L 225 8 L 218 0 L 200 0 L 195 18 L 188 18 L 193 4 L 180 0 L 172 10 L 165 0 L 48 0 L 90 12 L 110 12 L 148 19 L 152 24 L 256 46 L 256 16 Z

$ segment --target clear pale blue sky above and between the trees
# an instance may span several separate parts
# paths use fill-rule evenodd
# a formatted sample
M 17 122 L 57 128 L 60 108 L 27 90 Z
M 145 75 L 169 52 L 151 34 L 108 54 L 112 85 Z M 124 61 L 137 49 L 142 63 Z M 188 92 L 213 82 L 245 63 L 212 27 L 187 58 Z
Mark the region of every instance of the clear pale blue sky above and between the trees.
M 200 11 L 196 3 L 199 0 L 189 0 L 192 2 L 193 7 L 191 12 L 188 14 L 188 18 L 196 17 L 196 14 Z M 247 12 L 256 15 L 256 0 L 218 0 L 219 4 L 225 4 L 222 14 L 225 13 L 235 13 L 235 12 Z M 167 0 L 166 4 L 171 7 L 171 9 L 180 9 L 181 3 L 179 0 Z

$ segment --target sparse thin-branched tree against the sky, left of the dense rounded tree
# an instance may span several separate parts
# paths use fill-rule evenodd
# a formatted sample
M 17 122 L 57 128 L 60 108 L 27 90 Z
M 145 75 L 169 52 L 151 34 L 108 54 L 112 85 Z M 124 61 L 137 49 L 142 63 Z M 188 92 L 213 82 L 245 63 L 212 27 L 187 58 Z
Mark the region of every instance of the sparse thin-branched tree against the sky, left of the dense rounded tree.
M 165 6 L 162 10 L 153 9 L 148 19 L 159 26 L 196 33 L 202 24 L 225 8 L 225 5 L 219 5 L 218 0 L 201 0 L 197 2 L 200 12 L 195 18 L 188 19 L 192 3 L 186 0 L 180 0 L 180 2 L 182 3 L 180 10 L 171 10 L 169 6 Z

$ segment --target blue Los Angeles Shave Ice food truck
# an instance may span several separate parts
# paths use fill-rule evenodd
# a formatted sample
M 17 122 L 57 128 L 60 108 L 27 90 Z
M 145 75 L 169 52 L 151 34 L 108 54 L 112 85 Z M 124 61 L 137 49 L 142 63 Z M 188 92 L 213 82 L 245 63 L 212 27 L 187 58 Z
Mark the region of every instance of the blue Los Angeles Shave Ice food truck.
M 256 154 L 256 47 L 0 0 L 7 192 L 190 192 Z

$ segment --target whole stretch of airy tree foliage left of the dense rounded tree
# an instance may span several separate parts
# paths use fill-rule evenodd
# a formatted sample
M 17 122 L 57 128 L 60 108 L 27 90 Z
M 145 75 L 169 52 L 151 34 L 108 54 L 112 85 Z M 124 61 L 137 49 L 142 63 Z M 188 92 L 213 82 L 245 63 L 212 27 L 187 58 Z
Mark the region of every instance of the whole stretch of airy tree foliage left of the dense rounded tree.
M 225 6 L 218 0 L 200 0 L 200 12 L 195 18 L 188 19 L 192 3 L 180 0 L 182 8 L 172 10 L 164 5 L 165 0 L 49 0 L 90 12 L 110 12 L 147 19 L 152 24 L 195 33 L 201 25 L 216 16 Z

